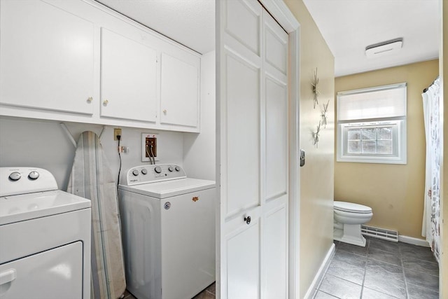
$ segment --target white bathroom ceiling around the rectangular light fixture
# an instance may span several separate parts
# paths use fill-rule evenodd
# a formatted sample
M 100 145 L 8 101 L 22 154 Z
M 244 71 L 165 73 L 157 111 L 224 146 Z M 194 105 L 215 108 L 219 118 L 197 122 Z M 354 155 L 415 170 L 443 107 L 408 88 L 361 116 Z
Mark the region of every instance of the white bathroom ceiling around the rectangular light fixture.
M 440 0 L 304 0 L 335 56 L 335 76 L 438 57 Z M 365 47 L 403 38 L 398 53 L 373 59 Z

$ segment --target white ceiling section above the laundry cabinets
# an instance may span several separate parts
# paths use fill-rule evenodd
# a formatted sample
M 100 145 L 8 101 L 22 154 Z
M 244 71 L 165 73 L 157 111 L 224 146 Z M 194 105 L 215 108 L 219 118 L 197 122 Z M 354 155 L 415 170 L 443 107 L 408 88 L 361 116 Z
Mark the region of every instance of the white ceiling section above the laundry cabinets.
M 214 0 L 97 0 L 201 54 L 215 48 Z

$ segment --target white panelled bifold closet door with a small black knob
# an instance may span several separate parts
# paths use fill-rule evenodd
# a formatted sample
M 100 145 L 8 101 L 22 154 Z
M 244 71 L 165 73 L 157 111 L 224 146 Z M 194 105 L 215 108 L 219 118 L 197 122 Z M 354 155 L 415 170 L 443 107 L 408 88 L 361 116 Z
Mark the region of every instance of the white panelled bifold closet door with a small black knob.
M 287 298 L 288 35 L 258 1 L 218 3 L 218 291 Z

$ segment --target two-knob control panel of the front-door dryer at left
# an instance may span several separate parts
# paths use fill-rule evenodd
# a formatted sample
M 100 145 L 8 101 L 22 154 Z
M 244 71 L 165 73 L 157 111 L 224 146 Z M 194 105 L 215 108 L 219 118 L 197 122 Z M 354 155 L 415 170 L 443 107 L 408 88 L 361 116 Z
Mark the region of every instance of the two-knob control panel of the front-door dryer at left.
M 0 167 L 0 197 L 57 190 L 55 177 L 36 167 Z

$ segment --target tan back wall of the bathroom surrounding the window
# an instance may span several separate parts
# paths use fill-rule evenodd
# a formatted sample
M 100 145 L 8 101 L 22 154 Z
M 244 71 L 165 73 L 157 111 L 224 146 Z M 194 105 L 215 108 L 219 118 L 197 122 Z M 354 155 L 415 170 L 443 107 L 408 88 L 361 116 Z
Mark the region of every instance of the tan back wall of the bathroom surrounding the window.
M 335 162 L 335 200 L 372 207 L 368 225 L 423 238 L 426 143 L 421 92 L 438 74 L 438 60 L 430 60 L 335 78 L 335 94 L 407 83 L 407 165 Z

